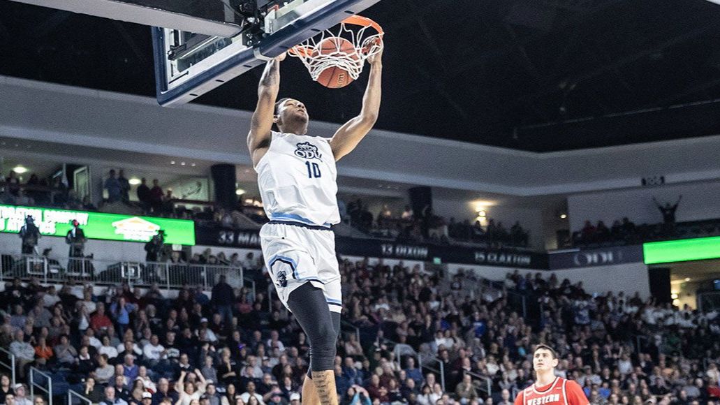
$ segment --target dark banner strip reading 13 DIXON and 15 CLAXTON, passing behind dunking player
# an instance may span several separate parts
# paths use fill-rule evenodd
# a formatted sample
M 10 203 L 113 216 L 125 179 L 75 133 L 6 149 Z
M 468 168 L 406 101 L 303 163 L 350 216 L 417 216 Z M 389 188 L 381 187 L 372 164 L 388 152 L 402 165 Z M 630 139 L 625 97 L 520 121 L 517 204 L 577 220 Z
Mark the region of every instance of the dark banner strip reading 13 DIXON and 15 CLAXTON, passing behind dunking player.
M 260 236 L 258 232 L 258 230 L 197 227 L 196 241 L 198 245 L 259 249 Z M 352 237 L 336 237 L 335 243 L 336 250 L 341 255 L 420 261 L 437 261 L 439 259 L 441 263 L 512 268 L 547 268 L 547 256 L 544 253 L 536 252 L 513 252 L 463 246 L 449 247 Z

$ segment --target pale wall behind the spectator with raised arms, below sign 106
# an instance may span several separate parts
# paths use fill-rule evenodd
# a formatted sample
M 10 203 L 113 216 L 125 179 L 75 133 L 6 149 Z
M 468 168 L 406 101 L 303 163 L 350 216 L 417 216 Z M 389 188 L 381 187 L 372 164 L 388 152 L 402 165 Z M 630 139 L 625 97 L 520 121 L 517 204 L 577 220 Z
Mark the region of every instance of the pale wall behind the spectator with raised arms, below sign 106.
M 720 217 L 720 181 L 685 183 L 569 196 L 570 229 L 580 230 L 586 219 L 593 224 L 603 220 L 608 227 L 622 217 L 628 217 L 636 224 L 656 224 L 662 222 L 662 215 L 652 197 L 661 204 L 665 201 L 675 204 L 680 194 L 683 200 L 675 212 L 678 222 Z

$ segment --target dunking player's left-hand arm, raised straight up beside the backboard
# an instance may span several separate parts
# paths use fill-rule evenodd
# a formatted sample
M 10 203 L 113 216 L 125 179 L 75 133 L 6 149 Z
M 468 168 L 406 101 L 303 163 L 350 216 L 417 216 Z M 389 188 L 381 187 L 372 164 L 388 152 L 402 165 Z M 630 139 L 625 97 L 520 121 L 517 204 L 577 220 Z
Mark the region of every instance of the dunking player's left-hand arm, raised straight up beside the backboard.
M 260 78 L 258 105 L 255 107 L 248 133 L 248 150 L 253 166 L 258 164 L 270 147 L 275 100 L 280 89 L 280 62 L 284 59 L 285 54 L 282 54 L 269 60 Z

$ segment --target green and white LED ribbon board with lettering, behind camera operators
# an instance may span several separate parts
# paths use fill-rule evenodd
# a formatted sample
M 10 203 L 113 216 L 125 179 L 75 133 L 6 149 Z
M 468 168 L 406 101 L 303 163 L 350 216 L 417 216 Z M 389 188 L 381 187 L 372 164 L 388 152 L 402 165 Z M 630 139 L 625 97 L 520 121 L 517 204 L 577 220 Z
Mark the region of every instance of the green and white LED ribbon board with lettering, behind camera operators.
M 30 206 L 0 205 L 0 232 L 19 232 L 27 215 L 32 215 L 42 235 L 65 237 L 73 227 L 73 219 L 77 219 L 88 239 L 148 242 L 163 229 L 166 244 L 195 245 L 195 224 L 185 219 L 133 217 Z

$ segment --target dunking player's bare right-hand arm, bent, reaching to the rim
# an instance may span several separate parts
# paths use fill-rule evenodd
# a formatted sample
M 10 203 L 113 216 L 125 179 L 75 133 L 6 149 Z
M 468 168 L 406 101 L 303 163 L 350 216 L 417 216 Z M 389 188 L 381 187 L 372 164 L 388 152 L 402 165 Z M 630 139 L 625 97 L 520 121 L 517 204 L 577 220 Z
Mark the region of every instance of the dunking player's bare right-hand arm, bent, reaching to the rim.
M 377 121 L 382 93 L 382 50 L 367 61 L 370 63 L 370 77 L 362 99 L 360 115 L 343 124 L 330 140 L 335 160 L 351 153 Z

